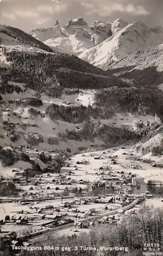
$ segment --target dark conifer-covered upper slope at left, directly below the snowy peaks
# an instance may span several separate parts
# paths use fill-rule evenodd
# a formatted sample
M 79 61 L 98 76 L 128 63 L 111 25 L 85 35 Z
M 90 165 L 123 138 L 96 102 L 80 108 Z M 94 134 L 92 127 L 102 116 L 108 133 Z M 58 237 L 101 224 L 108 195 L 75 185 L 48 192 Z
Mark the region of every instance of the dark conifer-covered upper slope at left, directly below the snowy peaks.
M 74 55 L 55 52 L 53 54 L 12 51 L 6 52 L 11 67 L 2 71 L 3 80 L 25 83 L 27 87 L 45 92 L 63 88 L 100 89 L 113 85 L 128 86 L 115 76 L 108 76 Z

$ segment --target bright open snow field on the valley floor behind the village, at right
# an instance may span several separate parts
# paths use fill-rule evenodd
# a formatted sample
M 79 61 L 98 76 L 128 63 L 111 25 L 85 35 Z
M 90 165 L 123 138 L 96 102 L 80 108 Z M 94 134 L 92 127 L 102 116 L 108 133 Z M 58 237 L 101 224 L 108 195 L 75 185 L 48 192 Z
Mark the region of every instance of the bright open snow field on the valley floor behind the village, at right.
M 85 159 L 86 161 L 89 161 L 89 164 L 87 164 L 87 165 L 76 164 L 77 167 L 80 166 L 80 170 L 85 170 L 88 173 L 91 172 L 92 174 L 95 174 L 97 172 L 97 169 L 100 168 L 101 166 L 106 166 L 106 165 L 110 166 L 111 158 L 109 159 L 108 157 L 111 156 L 112 158 L 114 158 L 114 156 L 117 155 L 118 158 L 116 158 L 116 161 L 118 164 L 111 165 L 113 172 L 114 171 L 116 172 L 117 170 L 122 172 L 122 170 L 123 170 L 125 173 L 131 172 L 132 174 L 142 176 L 146 180 L 149 180 L 151 178 L 153 180 L 153 178 L 155 177 L 156 180 L 160 180 L 163 182 L 163 170 L 162 169 L 160 169 L 158 167 L 152 167 L 151 164 L 149 164 L 149 163 L 132 160 L 132 158 L 134 158 L 134 157 L 138 158 L 138 157 L 140 157 L 140 155 L 138 153 L 134 152 L 134 146 L 126 146 L 125 145 L 124 147 L 125 147 L 125 149 L 122 149 L 122 146 L 115 147 L 115 148 L 118 148 L 117 151 L 113 151 L 112 149 L 109 148 L 110 153 L 107 153 L 107 150 L 105 150 L 105 151 L 84 153 L 84 156 L 82 156 L 83 154 L 75 155 L 75 156 L 71 157 L 72 163 L 76 164 L 77 161 L 80 162 Z M 106 152 L 106 154 L 102 154 L 103 152 Z M 123 155 L 123 153 L 126 153 L 126 155 Z M 133 156 L 128 155 L 130 153 L 132 153 Z M 96 157 L 96 156 L 101 156 L 103 159 L 95 160 L 94 157 Z M 159 161 L 163 160 L 163 157 L 160 157 L 158 160 Z M 141 168 L 133 169 L 133 168 L 131 168 L 131 165 L 139 165 L 139 166 L 141 166 Z M 94 175 L 92 175 L 92 177 L 94 177 Z

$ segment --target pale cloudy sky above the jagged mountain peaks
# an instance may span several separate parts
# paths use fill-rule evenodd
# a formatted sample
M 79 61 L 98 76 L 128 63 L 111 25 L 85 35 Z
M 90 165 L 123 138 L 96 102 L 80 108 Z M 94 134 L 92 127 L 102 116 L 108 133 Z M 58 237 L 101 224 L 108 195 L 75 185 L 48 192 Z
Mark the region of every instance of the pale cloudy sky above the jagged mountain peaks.
M 1 1 L 1 0 L 0 0 Z M 0 24 L 30 32 L 48 28 L 58 19 L 66 24 L 69 18 L 82 17 L 88 25 L 94 20 L 111 22 L 121 18 L 133 23 L 144 22 L 148 27 L 163 27 L 163 0 L 2 0 Z

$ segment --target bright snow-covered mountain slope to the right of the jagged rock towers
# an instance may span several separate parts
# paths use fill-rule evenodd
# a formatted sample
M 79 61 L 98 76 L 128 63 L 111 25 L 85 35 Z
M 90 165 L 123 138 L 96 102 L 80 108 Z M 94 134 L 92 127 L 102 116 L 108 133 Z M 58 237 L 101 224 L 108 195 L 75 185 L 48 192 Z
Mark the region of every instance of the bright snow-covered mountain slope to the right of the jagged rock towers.
M 115 26 L 115 28 L 117 27 Z M 162 43 L 163 32 L 160 27 L 159 29 L 149 29 L 145 24 L 136 21 L 133 24 L 126 26 L 123 24 L 120 28 L 114 29 L 112 36 L 100 45 L 84 51 L 79 57 L 106 70 L 114 61 Z

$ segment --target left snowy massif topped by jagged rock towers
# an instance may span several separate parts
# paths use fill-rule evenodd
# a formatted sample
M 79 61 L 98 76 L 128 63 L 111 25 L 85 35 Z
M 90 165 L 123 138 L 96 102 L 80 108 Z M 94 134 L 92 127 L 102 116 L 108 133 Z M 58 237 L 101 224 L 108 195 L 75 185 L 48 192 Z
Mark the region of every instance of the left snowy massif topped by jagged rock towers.
M 57 20 L 54 27 L 34 29 L 30 34 L 52 49 L 79 55 L 84 50 L 99 45 L 112 35 L 112 32 L 109 23 L 96 20 L 89 27 L 85 20 L 79 17 L 69 19 L 66 25 L 60 25 Z

